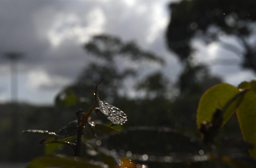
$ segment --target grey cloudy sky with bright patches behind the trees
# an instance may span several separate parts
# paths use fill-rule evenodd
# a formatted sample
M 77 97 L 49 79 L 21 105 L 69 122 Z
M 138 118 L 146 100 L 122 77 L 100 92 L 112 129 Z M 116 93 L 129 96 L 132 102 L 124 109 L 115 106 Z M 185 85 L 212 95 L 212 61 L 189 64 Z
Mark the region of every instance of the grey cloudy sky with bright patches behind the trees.
M 174 1 L 174 0 L 173 0 Z M 10 60 L 4 53 L 23 52 L 18 63 L 20 102 L 53 104 L 63 86 L 72 83 L 88 58 L 82 45 L 100 33 L 133 40 L 165 59 L 161 70 L 175 81 L 181 65 L 166 48 L 164 34 L 171 0 L 0 0 L 0 103 L 11 99 Z M 235 41 L 232 37 L 227 37 Z M 205 63 L 216 55 L 234 57 L 218 44 L 195 41 L 196 57 Z M 241 49 L 242 50 L 242 49 Z M 207 59 L 203 55 L 208 54 Z M 232 66 L 213 65 L 211 72 L 237 85 L 255 74 Z M 225 73 L 223 73 L 225 72 Z

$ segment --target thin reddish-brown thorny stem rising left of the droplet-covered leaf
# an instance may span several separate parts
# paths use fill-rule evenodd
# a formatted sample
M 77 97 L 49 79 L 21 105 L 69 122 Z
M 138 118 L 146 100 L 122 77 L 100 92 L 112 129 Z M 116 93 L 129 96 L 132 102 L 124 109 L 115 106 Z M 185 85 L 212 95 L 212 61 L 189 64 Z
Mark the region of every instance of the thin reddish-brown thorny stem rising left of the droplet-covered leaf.
M 95 92 L 93 94 L 94 96 L 94 103 L 92 105 L 92 107 L 90 108 L 89 112 L 87 115 L 84 115 L 83 118 L 81 118 L 82 116 L 82 113 L 83 113 L 83 110 L 79 109 L 78 112 L 76 112 L 76 115 L 78 117 L 78 133 L 77 133 L 77 136 L 76 136 L 76 147 L 75 147 L 75 156 L 81 156 L 81 139 L 82 139 L 82 134 L 83 134 L 83 127 L 85 126 L 85 124 L 87 123 L 88 121 L 88 118 L 90 116 L 90 114 L 92 113 L 93 109 L 94 109 L 94 106 L 97 104 L 98 102 L 98 98 L 97 98 L 97 87 L 98 85 L 101 83 L 101 81 L 105 79 L 105 78 L 102 78 L 100 80 L 100 82 L 98 82 L 96 85 L 95 85 Z

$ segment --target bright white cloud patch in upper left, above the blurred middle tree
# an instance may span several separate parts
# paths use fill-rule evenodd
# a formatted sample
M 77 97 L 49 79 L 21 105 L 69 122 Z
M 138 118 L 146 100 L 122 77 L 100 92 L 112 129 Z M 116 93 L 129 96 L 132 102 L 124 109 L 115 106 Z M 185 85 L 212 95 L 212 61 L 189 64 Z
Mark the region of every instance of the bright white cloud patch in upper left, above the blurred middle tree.
M 54 24 L 47 33 L 47 37 L 54 47 L 65 40 L 85 43 L 92 35 L 102 33 L 106 23 L 105 15 L 98 7 L 92 9 L 85 20 L 74 13 L 60 13 L 55 16 L 54 20 Z

